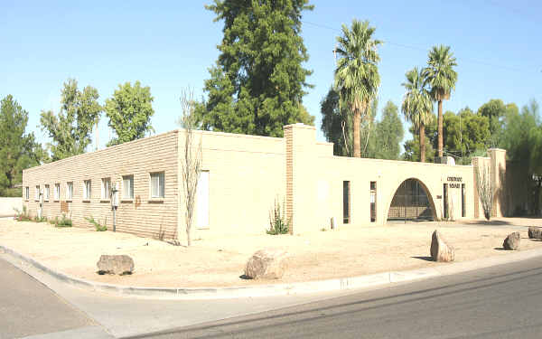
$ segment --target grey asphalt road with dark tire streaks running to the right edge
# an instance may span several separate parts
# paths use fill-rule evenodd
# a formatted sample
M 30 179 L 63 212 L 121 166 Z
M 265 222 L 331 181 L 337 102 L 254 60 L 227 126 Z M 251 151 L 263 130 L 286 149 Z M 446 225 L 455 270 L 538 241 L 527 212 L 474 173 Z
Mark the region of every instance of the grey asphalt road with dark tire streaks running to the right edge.
M 542 258 L 134 338 L 542 338 Z

